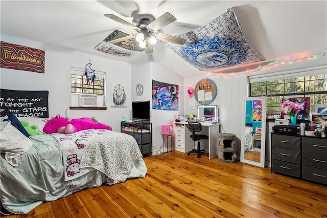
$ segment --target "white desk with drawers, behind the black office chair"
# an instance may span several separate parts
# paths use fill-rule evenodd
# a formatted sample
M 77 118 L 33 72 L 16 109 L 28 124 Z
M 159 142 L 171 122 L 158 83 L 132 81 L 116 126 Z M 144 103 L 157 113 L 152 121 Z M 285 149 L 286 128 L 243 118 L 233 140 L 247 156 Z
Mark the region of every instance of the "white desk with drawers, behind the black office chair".
M 201 149 L 205 149 L 209 152 L 209 160 L 218 156 L 217 149 L 217 136 L 219 133 L 220 124 L 212 124 L 212 122 L 201 122 L 202 131 L 198 134 L 208 136 L 208 140 L 201 140 Z M 175 134 L 175 150 L 181 152 L 189 152 L 194 148 L 194 141 L 190 137 L 192 132 L 189 130 L 188 122 L 175 122 L 174 123 Z

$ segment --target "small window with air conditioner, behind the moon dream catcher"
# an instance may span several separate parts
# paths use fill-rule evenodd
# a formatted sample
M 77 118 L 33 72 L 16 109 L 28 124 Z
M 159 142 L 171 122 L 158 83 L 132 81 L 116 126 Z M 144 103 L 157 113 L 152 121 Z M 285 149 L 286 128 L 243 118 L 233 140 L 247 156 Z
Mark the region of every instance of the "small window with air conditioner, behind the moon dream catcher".
M 92 105 L 105 106 L 105 73 L 96 71 L 95 75 L 95 80 L 88 82 L 85 69 L 71 68 L 71 106 L 86 107 L 80 102 L 79 94 L 81 93 L 96 94 L 97 97 L 93 99 Z

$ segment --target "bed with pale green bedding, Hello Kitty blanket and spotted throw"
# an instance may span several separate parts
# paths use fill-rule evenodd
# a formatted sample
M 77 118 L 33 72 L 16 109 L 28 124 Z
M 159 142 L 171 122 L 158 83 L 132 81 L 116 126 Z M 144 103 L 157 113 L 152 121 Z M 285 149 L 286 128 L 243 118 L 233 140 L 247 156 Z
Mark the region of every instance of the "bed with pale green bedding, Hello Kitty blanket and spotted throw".
M 43 118 L 16 118 L 38 130 L 45 124 Z M 0 132 L 1 203 L 10 213 L 26 214 L 44 201 L 147 173 L 141 151 L 128 134 L 86 129 L 26 137 L 11 120 L 0 122 Z

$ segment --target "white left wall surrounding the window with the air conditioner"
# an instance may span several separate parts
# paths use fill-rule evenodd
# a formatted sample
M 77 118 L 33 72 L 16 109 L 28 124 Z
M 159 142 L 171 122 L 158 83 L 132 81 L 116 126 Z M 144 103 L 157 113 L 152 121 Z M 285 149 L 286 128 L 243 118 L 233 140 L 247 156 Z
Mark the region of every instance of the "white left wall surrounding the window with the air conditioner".
M 130 111 L 131 64 L 101 56 L 43 45 L 27 39 L 1 35 L 1 40 L 45 51 L 45 73 L 1 68 L 0 86 L 11 90 L 48 90 L 49 116 L 65 115 L 71 106 L 71 67 L 85 68 L 91 60 L 92 69 L 106 72 L 106 111 L 67 111 L 69 118 L 96 117 L 99 122 L 120 130 L 120 118 Z M 128 107 L 110 107 L 110 85 L 122 83 L 127 93 Z

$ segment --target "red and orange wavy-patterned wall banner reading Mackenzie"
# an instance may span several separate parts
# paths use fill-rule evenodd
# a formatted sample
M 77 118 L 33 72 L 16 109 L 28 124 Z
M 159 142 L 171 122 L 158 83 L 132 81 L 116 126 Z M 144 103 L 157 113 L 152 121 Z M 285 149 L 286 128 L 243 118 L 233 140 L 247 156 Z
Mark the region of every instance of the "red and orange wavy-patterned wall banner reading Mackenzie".
M 1 67 L 44 73 L 45 52 L 1 41 Z

